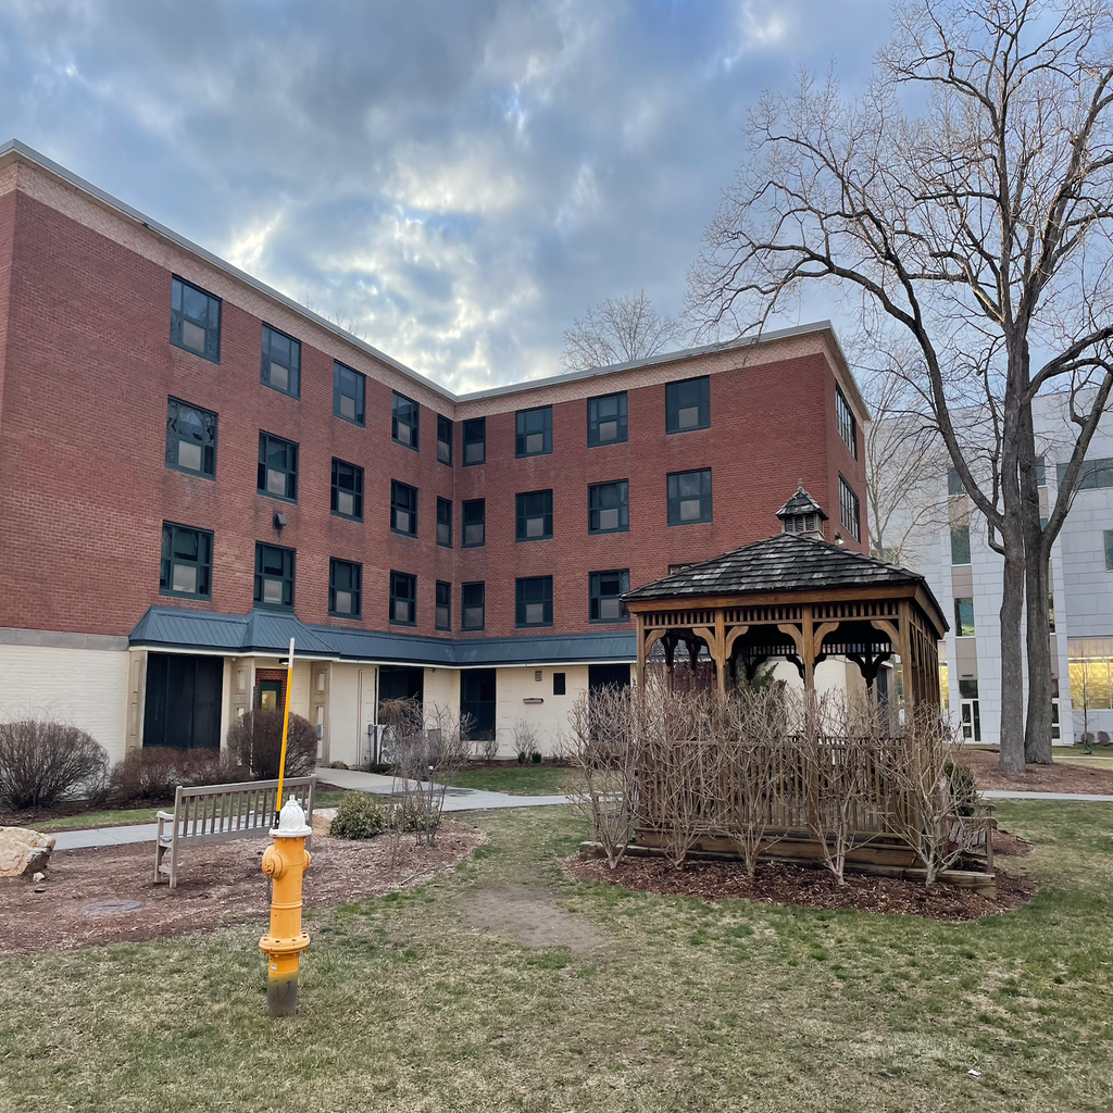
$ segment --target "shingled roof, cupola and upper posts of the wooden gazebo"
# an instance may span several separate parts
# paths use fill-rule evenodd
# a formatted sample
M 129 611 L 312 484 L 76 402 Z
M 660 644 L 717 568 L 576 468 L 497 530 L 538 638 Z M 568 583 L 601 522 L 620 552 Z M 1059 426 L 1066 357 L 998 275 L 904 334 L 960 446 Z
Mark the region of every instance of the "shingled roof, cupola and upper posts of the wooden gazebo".
M 922 575 L 823 540 L 826 515 L 800 489 L 781 508 L 782 533 L 692 564 L 630 591 L 638 623 L 638 686 L 660 641 L 666 677 L 687 646 L 707 646 L 720 692 L 785 658 L 815 686 L 815 668 L 844 657 L 873 687 L 881 663 L 899 658 L 906 702 L 939 702 L 938 641 L 947 630 Z

